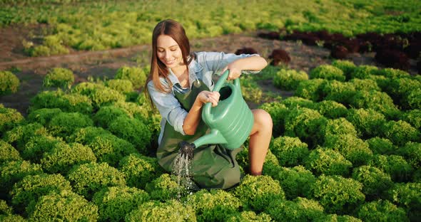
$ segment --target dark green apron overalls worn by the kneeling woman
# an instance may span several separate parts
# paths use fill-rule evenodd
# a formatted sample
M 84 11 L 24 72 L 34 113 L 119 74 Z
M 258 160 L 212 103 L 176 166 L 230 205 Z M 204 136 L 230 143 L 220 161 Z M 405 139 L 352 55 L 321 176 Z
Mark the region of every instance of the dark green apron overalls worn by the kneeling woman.
M 178 102 L 188 112 L 191 109 L 196 96 L 203 90 L 209 90 L 201 80 L 193 83 L 187 93 L 174 92 Z M 156 156 L 158 162 L 166 171 L 171 172 L 173 162 L 178 154 L 178 142 L 194 142 L 197 138 L 206 134 L 208 126 L 201 120 L 194 135 L 183 135 L 166 122 L 161 144 Z M 240 182 L 240 168 L 235 155 L 242 147 L 229 150 L 218 144 L 208 144 L 197 147 L 193 156 L 193 181 L 204 189 L 228 189 Z

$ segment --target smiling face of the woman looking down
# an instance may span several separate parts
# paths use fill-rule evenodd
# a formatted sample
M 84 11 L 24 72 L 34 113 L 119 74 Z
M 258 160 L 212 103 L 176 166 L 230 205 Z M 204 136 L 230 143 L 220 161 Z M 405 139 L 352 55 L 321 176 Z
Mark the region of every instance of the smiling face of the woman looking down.
M 156 55 L 167 68 L 176 68 L 183 65 L 183 54 L 177 42 L 170 36 L 158 36 L 156 42 Z

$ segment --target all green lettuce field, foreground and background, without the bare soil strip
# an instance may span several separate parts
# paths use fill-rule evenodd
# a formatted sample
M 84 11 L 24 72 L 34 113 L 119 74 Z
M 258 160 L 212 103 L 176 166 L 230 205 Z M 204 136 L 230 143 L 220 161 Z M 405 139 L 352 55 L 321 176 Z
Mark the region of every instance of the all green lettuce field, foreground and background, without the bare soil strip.
M 420 1 L 116 2 L 6 0 L 0 23 L 46 24 L 23 41 L 29 56 L 148 44 L 168 17 L 191 38 L 421 31 Z M 51 68 L 27 113 L 0 103 L 0 221 L 420 220 L 421 75 L 334 60 L 241 76 L 245 100 L 273 118 L 263 175 L 248 175 L 243 149 L 238 186 L 186 191 L 154 156 L 161 117 L 139 90 L 148 70 L 75 83 Z M 0 70 L 0 97 L 19 90 L 14 71 Z M 260 81 L 293 96 L 263 93 Z

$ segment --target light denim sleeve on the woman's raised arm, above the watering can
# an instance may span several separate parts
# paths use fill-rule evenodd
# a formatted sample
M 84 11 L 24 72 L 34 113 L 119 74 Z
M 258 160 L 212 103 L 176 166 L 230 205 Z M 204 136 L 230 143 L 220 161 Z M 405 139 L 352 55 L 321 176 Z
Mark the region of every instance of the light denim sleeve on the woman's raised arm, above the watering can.
M 208 69 L 214 70 L 217 73 L 223 70 L 229 63 L 232 63 L 235 60 L 240 58 L 247 58 L 250 56 L 259 56 L 258 54 L 240 54 L 235 55 L 234 53 L 216 53 L 216 52 L 202 52 L 201 53 L 202 59 L 206 61 L 206 65 Z M 242 70 L 241 73 L 245 74 L 255 74 L 259 73 L 260 70 Z

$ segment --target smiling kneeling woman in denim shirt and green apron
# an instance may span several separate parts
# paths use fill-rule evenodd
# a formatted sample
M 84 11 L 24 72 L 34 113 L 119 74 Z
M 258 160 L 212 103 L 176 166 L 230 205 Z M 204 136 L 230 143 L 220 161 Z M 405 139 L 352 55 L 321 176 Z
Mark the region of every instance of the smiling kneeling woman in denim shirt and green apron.
M 219 93 L 213 89 L 212 75 L 229 70 L 228 80 L 244 70 L 258 73 L 268 63 L 258 55 L 191 53 L 183 26 L 173 20 L 159 22 L 153 30 L 151 73 L 146 89 L 161 116 L 158 137 L 158 162 L 172 171 L 178 142 L 193 142 L 206 133 L 201 108 L 206 102 L 218 105 Z M 250 132 L 250 174 L 260 175 L 272 136 L 272 119 L 264 110 L 252 110 Z M 201 188 L 228 189 L 240 182 L 240 169 L 233 151 L 218 144 L 197 147 L 193 156 L 193 181 Z

